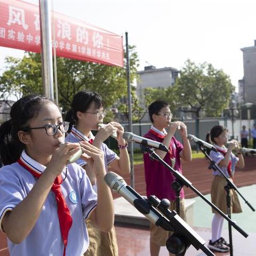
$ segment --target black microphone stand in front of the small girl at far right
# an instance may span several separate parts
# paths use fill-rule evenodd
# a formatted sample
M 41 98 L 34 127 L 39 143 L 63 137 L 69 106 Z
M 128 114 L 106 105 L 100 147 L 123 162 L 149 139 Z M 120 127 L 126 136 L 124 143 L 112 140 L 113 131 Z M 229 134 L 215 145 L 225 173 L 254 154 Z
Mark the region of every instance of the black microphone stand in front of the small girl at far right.
M 228 218 L 231 219 L 231 196 L 230 196 L 230 189 L 234 189 L 237 194 L 239 194 L 243 199 L 244 202 L 251 208 L 251 210 L 254 212 L 255 209 L 253 206 L 246 201 L 246 199 L 242 196 L 242 194 L 238 191 L 237 187 L 235 184 L 228 179 L 228 177 L 223 173 L 220 169 L 220 167 L 212 160 L 212 158 L 207 154 L 206 148 L 203 146 L 203 143 L 200 141 L 196 142 L 198 146 L 201 148 L 202 152 L 204 153 L 205 157 L 210 160 L 210 166 L 208 167 L 209 169 L 212 169 L 214 171 L 219 171 L 221 175 L 226 179 L 227 185 L 224 187 L 226 190 L 226 201 L 227 201 L 227 213 L 228 213 Z M 232 229 L 230 222 L 228 222 L 228 234 L 229 234 L 229 252 L 230 256 L 233 256 L 233 239 L 232 239 Z

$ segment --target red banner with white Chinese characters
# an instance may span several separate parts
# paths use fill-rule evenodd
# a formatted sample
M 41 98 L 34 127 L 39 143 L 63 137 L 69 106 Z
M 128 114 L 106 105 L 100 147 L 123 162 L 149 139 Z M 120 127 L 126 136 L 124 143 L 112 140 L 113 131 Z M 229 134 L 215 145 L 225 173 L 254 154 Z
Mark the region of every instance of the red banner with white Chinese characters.
M 54 26 L 58 56 L 123 67 L 121 36 L 56 12 Z M 38 6 L 0 0 L 0 46 L 41 52 Z

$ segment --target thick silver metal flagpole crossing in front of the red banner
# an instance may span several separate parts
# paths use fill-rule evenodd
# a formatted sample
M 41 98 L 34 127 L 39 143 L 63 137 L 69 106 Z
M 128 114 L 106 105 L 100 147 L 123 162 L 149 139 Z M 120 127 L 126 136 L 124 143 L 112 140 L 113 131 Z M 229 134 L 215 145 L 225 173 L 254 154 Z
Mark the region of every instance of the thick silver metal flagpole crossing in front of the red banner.
M 39 12 L 43 93 L 46 97 L 54 100 L 51 14 L 49 2 L 47 0 L 39 0 Z

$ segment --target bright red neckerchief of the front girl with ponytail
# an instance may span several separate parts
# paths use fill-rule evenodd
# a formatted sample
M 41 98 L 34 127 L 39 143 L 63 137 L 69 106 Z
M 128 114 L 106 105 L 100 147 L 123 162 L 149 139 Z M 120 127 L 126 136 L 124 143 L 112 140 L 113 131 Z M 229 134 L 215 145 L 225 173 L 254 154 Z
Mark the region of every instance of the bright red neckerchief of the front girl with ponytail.
M 26 165 L 26 163 L 22 161 L 22 158 L 18 160 L 18 163 L 22 167 L 24 167 L 27 171 L 29 171 L 31 174 L 33 174 L 36 178 L 39 178 L 41 176 L 41 174 L 35 172 L 33 169 L 30 168 L 30 166 Z M 68 210 L 68 206 L 66 204 L 65 198 L 63 197 L 60 190 L 61 183 L 62 183 L 62 178 L 61 178 L 61 175 L 59 175 L 54 180 L 54 183 L 52 185 L 52 191 L 55 194 L 55 198 L 58 204 L 58 217 L 60 222 L 60 231 L 61 231 L 61 236 L 64 242 L 63 256 L 65 256 L 66 247 L 68 243 L 68 231 L 72 226 L 73 220 Z

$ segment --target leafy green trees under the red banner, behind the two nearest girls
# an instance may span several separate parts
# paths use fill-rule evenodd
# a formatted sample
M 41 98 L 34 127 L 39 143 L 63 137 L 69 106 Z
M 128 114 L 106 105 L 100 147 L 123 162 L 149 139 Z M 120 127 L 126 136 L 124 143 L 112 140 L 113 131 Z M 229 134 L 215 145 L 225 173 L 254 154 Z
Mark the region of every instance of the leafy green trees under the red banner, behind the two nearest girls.
M 130 46 L 129 51 L 133 81 L 139 60 L 135 46 Z M 125 60 L 124 63 L 126 66 Z M 6 64 L 7 69 L 0 77 L 0 99 L 7 100 L 10 95 L 19 99 L 30 93 L 43 93 L 39 54 L 27 52 L 22 59 L 7 57 Z M 57 58 L 57 76 L 59 105 L 63 110 L 70 108 L 74 95 L 83 89 L 100 93 L 107 108 L 122 97 L 127 97 L 125 67 Z

